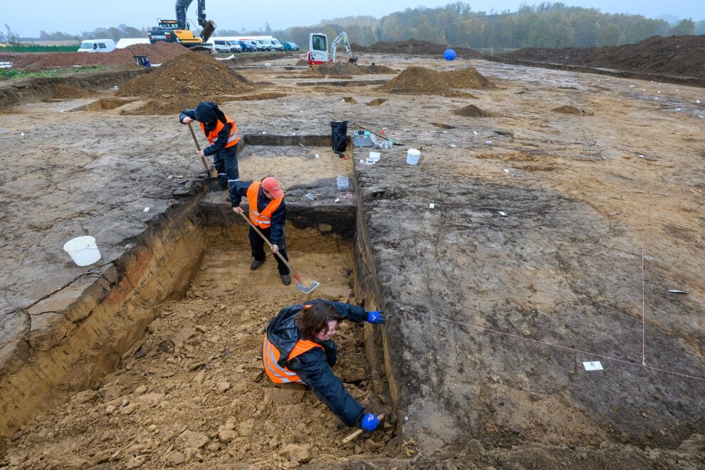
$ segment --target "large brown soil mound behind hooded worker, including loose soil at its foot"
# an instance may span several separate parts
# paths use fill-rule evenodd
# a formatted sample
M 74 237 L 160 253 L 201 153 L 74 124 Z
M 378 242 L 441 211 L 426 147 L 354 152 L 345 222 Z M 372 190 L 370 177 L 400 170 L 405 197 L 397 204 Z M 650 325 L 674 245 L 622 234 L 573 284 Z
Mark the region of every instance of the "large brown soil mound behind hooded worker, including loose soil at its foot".
M 189 52 L 127 81 L 117 95 L 152 98 L 141 108 L 126 110 L 125 114 L 168 115 L 194 108 L 199 101 L 222 103 L 222 95 L 241 95 L 256 88 L 250 80 L 211 56 Z

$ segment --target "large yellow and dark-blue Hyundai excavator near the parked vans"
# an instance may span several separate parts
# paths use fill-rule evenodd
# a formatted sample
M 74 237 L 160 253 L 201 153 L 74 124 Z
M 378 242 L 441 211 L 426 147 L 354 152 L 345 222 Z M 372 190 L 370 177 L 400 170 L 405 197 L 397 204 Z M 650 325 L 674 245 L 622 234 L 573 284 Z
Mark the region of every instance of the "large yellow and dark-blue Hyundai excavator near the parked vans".
M 211 20 L 206 20 L 206 0 L 198 0 L 198 24 L 201 26 L 201 34 L 197 37 L 189 29 L 189 23 L 186 19 L 186 11 L 189 9 L 193 0 L 176 0 L 176 15 L 175 20 L 159 19 L 159 26 L 152 26 L 152 29 L 147 32 L 150 38 L 150 43 L 154 44 L 159 41 L 167 43 L 179 43 L 182 46 L 194 50 L 211 51 L 211 48 L 206 44 L 211 35 L 216 29 L 216 23 Z

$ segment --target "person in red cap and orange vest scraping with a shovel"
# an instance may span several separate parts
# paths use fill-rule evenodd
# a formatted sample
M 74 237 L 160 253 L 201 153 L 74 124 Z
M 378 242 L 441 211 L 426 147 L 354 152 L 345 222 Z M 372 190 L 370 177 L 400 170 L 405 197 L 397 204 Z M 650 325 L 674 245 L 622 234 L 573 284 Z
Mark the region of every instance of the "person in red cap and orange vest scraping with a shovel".
M 233 211 L 237 214 L 244 214 L 240 207 L 242 197 L 247 197 L 250 207 L 250 221 L 262 232 L 272 244 L 272 253 L 275 254 L 279 276 L 284 286 L 291 284 L 289 268 L 276 256 L 278 252 L 286 261 L 286 241 L 284 240 L 284 223 L 286 221 L 286 207 L 284 206 L 284 192 L 279 186 L 279 182 L 267 177 L 262 182 L 240 181 L 230 187 L 230 201 Z M 250 227 L 248 232 L 250 248 L 254 261 L 250 269 L 255 271 L 266 261 L 267 255 L 264 252 L 264 240 L 255 229 Z

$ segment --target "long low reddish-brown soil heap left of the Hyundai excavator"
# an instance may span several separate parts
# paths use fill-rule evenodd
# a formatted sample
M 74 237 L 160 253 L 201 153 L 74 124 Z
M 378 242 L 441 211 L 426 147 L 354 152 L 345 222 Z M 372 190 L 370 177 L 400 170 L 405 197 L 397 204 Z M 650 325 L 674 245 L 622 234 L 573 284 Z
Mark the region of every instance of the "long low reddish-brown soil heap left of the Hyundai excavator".
M 43 70 L 73 66 L 129 66 L 140 67 L 132 56 L 149 56 L 152 63 L 163 63 L 183 53 L 187 48 L 175 43 L 135 44 L 106 53 L 51 52 L 51 53 L 0 53 L 0 61 L 11 62 L 12 68 Z

